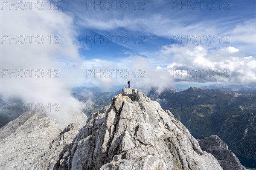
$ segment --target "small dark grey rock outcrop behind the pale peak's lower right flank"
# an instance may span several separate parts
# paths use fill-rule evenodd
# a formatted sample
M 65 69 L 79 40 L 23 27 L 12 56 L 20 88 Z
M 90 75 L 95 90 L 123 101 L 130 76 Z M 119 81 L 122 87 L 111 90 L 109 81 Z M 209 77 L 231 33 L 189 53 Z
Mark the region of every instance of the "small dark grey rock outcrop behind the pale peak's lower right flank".
M 211 153 L 218 160 L 223 170 L 244 170 L 236 155 L 228 150 L 227 144 L 217 135 L 198 139 L 198 143 L 202 150 Z

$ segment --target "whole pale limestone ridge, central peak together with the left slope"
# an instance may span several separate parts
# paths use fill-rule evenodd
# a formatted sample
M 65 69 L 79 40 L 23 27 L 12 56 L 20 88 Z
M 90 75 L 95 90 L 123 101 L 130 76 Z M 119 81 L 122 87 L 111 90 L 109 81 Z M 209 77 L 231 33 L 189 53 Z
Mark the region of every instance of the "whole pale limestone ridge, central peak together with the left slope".
M 170 111 L 138 89 L 123 88 L 82 126 L 61 128 L 43 113 L 29 114 L 16 130 L 9 129 L 17 120 L 1 129 L 1 170 L 222 170 Z M 52 140 L 28 147 L 7 140 L 38 136 Z

